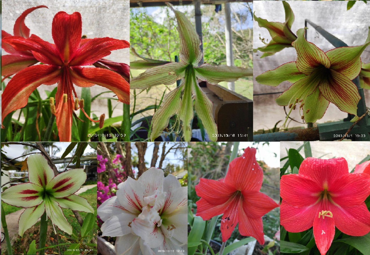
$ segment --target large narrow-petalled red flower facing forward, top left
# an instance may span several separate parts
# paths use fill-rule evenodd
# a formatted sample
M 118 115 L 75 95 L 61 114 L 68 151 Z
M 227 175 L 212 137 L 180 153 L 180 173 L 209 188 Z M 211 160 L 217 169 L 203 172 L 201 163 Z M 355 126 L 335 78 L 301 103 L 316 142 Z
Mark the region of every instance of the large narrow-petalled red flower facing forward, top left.
M 24 107 L 32 91 L 41 84 L 58 82 L 56 105 L 54 107 L 52 103 L 51 111 L 56 116 L 60 141 L 71 140 L 73 110 L 77 110 L 79 105 L 84 112 L 83 103 L 78 104 L 73 84 L 79 87 L 101 85 L 117 94 L 121 102 L 129 103 L 129 84 L 120 74 L 105 68 L 83 67 L 109 55 L 111 50 L 129 47 L 129 43 L 104 37 L 90 39 L 80 46 L 81 33 L 81 14 L 60 11 L 54 16 L 52 24 L 55 44 L 19 36 L 2 40 L 15 50 L 32 51 L 33 56 L 43 63 L 24 68 L 9 81 L 2 95 L 2 120 L 11 111 Z

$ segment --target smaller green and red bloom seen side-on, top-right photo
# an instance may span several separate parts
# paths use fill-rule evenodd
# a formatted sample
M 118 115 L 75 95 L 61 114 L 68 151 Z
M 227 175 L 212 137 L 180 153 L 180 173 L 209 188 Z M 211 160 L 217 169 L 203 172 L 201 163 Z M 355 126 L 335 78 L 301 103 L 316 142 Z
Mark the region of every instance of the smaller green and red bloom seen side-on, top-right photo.
M 255 52 L 257 50 L 263 52 L 261 58 L 271 56 L 283 48 L 292 47 L 293 41 L 297 39 L 297 36 L 290 30 L 294 22 L 294 13 L 286 1 L 283 1 L 283 6 L 285 10 L 285 23 L 270 22 L 257 17 L 253 13 L 254 20 L 258 22 L 258 26 L 269 30 L 272 38 L 266 46 L 254 50 Z

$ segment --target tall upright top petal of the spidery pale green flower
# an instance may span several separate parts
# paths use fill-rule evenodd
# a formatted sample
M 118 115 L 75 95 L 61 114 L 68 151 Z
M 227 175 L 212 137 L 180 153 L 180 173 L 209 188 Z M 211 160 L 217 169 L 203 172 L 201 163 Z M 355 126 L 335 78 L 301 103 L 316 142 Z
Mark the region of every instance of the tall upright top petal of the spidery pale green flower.
M 199 46 L 202 44 L 199 39 L 195 28 L 186 19 L 184 13 L 181 11 L 176 11 L 172 4 L 166 3 L 172 11 L 174 11 L 177 20 L 177 30 L 180 36 L 180 60 L 185 63 L 197 66 L 199 61 L 201 61 L 203 53 Z

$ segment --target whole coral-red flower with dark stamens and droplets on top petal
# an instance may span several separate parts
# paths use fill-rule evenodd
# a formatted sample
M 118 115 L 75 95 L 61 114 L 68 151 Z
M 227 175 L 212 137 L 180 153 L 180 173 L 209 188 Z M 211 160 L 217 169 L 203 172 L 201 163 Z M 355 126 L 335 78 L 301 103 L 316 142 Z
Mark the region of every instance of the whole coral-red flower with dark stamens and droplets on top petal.
M 240 235 L 253 236 L 260 244 L 263 237 L 262 216 L 279 205 L 261 189 L 263 171 L 256 161 L 256 149 L 246 148 L 241 157 L 230 162 L 225 179 L 201 178 L 195 186 L 201 197 L 196 202 L 196 216 L 209 220 L 222 215 L 222 242 L 230 238 L 239 222 Z

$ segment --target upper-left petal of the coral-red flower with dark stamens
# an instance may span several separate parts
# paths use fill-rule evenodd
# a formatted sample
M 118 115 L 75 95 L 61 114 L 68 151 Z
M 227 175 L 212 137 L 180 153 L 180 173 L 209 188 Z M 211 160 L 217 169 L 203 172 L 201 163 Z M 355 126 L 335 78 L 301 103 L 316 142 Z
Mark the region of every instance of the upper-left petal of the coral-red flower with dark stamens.
M 229 200 L 236 189 L 221 181 L 201 178 L 199 184 L 195 185 L 195 191 L 209 204 L 221 205 Z

